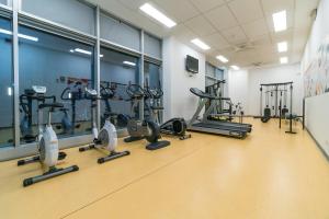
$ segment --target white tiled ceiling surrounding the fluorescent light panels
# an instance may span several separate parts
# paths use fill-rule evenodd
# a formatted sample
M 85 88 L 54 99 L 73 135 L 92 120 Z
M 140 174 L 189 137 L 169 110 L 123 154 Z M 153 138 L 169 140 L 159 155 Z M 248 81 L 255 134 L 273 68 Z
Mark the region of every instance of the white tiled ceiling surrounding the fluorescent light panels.
M 136 26 L 159 36 L 175 36 L 200 50 L 191 39 L 198 37 L 212 49 L 200 50 L 217 66 L 279 65 L 281 56 L 290 62 L 300 60 L 311 26 L 310 12 L 319 0 L 88 0 Z M 178 25 L 167 28 L 146 16 L 139 7 L 150 2 Z M 287 30 L 274 32 L 272 13 L 287 11 Z M 288 42 L 288 51 L 279 54 L 276 43 Z M 247 46 L 245 49 L 238 47 Z M 223 65 L 215 59 L 224 55 Z

